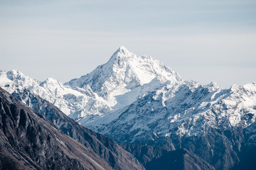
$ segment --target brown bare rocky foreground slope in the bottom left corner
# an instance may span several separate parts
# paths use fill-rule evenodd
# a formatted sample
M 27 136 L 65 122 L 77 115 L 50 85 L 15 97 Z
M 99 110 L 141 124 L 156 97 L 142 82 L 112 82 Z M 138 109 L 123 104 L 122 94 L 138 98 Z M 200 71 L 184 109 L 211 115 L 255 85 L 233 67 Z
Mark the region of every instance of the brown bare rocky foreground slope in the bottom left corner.
M 0 88 L 0 169 L 112 169 Z

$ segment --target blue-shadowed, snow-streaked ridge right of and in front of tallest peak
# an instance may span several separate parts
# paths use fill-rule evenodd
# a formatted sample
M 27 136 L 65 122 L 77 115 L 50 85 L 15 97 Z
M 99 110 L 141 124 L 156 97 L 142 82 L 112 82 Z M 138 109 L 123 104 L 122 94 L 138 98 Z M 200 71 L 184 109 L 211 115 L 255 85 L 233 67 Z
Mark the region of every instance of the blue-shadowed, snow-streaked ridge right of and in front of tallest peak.
M 183 84 L 177 89 L 168 85 L 87 127 L 119 142 L 146 144 L 172 135 L 200 136 L 209 128 L 228 130 L 255 123 L 256 83 L 230 89 L 214 83 Z M 115 119 L 109 122 L 111 117 Z

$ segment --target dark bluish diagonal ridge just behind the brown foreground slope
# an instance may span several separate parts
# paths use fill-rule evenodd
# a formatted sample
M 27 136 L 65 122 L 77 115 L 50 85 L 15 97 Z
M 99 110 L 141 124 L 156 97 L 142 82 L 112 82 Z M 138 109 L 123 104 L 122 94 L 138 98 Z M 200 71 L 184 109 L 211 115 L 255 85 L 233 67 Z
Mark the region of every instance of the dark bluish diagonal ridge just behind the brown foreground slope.
M 62 113 L 52 103 L 31 94 L 28 90 L 13 93 L 16 98 L 31 106 L 35 111 L 45 115 L 50 122 L 57 126 L 65 135 L 72 137 L 85 147 L 90 148 L 114 169 L 144 169 L 142 164 L 125 149 L 109 137 L 93 132 Z

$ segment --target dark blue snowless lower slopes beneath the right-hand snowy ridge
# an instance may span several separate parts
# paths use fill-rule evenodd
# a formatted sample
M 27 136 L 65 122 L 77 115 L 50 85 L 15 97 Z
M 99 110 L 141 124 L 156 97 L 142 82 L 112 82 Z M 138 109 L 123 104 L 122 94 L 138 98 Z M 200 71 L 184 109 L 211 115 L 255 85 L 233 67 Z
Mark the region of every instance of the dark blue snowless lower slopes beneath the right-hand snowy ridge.
M 253 128 L 251 127 L 251 129 Z M 245 135 L 246 132 L 248 133 L 247 135 Z M 214 166 L 215 169 L 230 169 L 235 164 L 240 164 L 240 159 L 244 160 L 244 162 L 248 161 L 248 159 L 243 157 L 252 160 L 250 156 L 255 154 L 250 152 L 250 150 L 251 148 L 253 149 L 253 146 L 256 146 L 256 142 L 252 142 L 256 141 L 254 138 L 252 139 L 254 134 L 256 133 L 247 128 L 245 130 L 233 128 L 225 131 L 212 128 L 208 133 L 200 137 L 183 137 L 183 139 L 180 139 L 173 135 L 169 140 L 166 140 L 165 145 L 122 144 L 122 147 L 134 154 L 139 162 L 144 165 L 149 164 L 153 159 L 164 157 L 164 154 L 185 148 L 188 152 Z M 193 164 L 196 164 L 196 162 L 193 162 Z

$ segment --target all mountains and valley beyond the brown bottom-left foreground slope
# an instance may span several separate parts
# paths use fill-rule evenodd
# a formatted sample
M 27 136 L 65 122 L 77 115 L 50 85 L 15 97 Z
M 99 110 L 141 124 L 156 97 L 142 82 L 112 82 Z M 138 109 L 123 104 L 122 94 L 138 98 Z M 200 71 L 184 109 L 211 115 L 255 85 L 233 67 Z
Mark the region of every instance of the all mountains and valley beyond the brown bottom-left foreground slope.
M 0 86 L 89 148 L 100 168 L 256 167 L 256 82 L 201 85 L 119 47 L 106 64 L 65 84 L 11 70 L 0 71 Z

